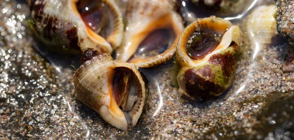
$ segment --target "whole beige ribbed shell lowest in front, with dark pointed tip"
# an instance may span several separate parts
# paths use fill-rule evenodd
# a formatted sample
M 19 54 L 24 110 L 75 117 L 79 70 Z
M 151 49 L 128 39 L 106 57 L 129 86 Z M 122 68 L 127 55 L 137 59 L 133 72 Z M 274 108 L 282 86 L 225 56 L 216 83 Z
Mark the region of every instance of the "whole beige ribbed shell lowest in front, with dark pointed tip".
M 146 101 L 146 87 L 132 63 L 112 60 L 109 54 L 86 50 L 73 75 L 76 96 L 113 126 L 133 127 Z

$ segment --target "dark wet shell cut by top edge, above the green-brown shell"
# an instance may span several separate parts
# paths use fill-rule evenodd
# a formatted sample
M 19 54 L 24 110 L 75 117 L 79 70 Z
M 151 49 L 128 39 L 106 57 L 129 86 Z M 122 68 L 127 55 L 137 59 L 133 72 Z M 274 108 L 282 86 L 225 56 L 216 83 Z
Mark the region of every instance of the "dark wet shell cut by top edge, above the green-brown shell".
M 177 0 L 178 11 L 186 25 L 197 18 L 207 18 L 211 15 L 226 20 L 238 20 L 260 1 L 264 2 L 264 0 Z

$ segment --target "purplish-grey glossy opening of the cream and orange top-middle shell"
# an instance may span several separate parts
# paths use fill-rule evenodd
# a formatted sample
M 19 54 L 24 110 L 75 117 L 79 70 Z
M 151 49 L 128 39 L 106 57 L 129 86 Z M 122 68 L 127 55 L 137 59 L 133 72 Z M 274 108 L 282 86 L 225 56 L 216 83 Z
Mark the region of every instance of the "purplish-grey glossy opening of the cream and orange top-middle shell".
M 148 59 L 164 53 L 175 40 L 175 33 L 172 29 L 161 28 L 150 32 L 140 43 L 134 55 L 129 59 Z

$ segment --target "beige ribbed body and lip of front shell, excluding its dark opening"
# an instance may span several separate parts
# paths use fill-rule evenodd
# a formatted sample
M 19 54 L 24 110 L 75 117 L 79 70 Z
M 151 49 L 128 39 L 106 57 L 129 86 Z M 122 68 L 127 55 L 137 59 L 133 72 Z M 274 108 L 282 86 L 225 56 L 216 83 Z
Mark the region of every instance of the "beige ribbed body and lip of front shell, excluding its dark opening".
M 77 98 L 98 112 L 106 122 L 121 130 L 127 130 L 128 127 L 133 127 L 137 123 L 143 112 L 146 101 L 146 85 L 133 63 L 111 60 L 109 54 L 104 55 L 106 56 L 104 58 L 93 57 L 91 60 L 85 61 L 74 73 Z M 126 112 L 131 118 L 131 126 L 128 126 L 125 114 L 117 105 L 112 92 L 114 69 L 117 67 L 130 69 L 139 80 L 139 88 L 142 89 L 133 109 Z M 96 98 L 97 96 L 99 98 Z

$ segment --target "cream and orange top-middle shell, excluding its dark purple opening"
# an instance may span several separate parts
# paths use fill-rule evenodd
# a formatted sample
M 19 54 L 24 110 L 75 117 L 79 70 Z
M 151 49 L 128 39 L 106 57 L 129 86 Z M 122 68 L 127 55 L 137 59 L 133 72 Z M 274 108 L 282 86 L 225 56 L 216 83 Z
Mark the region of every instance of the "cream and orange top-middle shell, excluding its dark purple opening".
M 164 53 L 130 62 L 137 67 L 152 67 L 171 59 L 184 29 L 181 17 L 173 11 L 174 3 L 174 0 L 128 0 L 123 45 L 117 49 L 116 58 L 128 61 L 149 33 L 156 29 L 171 28 L 175 39 Z

